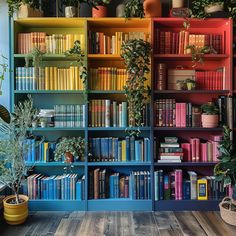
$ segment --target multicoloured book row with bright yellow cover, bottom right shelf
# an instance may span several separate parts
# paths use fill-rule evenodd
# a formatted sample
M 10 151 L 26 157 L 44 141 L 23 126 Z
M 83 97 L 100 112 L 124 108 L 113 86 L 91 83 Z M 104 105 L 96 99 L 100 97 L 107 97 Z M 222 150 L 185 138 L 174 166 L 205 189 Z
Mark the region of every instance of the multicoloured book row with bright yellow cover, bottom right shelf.
M 155 201 L 159 200 L 218 200 L 225 196 L 223 183 L 214 176 L 198 176 L 194 171 L 182 169 L 170 173 L 154 172 Z

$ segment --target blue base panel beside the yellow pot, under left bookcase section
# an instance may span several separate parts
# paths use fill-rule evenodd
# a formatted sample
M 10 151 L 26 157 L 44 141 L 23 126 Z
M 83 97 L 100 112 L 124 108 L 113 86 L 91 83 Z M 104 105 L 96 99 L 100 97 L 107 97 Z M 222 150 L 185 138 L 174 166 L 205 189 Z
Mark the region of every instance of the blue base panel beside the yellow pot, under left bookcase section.
M 30 200 L 30 211 L 85 211 L 85 201 Z

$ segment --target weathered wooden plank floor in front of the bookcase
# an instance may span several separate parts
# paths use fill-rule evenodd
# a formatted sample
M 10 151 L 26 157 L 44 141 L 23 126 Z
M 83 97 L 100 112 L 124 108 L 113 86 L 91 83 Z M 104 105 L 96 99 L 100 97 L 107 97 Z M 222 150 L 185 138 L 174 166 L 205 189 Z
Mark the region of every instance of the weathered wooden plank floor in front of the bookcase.
M 33 212 L 20 226 L 0 223 L 1 236 L 236 236 L 218 212 Z

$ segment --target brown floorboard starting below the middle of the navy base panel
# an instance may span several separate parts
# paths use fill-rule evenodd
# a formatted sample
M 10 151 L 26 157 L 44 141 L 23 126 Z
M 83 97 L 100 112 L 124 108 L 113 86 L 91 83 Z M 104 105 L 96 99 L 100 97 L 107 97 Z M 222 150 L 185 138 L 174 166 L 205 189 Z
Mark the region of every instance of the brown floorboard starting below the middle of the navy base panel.
M 184 233 L 190 236 L 205 236 L 207 235 L 201 225 L 198 223 L 192 212 L 174 212 L 176 219 Z

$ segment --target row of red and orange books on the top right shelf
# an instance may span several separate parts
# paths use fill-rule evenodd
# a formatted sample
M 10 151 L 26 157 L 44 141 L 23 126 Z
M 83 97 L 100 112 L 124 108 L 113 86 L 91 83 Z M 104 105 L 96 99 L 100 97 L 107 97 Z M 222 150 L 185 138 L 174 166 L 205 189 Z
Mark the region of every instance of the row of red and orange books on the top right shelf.
M 189 54 L 187 46 L 194 45 L 197 50 L 210 46 L 216 53 L 224 53 L 223 36 L 221 34 L 192 34 L 188 31 L 162 31 L 155 29 L 155 48 L 160 54 Z

